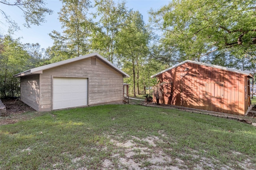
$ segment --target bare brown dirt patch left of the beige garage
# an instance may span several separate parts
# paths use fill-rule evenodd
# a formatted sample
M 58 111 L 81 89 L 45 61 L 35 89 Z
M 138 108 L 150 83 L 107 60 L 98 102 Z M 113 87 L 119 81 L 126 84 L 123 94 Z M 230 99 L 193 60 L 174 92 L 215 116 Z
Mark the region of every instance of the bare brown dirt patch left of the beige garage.
M 42 113 L 29 114 L 36 112 L 32 107 L 15 99 L 1 99 L 2 103 L 6 106 L 6 114 L 0 117 L 0 125 L 13 124 L 22 120 L 29 120 L 32 117 L 40 116 Z

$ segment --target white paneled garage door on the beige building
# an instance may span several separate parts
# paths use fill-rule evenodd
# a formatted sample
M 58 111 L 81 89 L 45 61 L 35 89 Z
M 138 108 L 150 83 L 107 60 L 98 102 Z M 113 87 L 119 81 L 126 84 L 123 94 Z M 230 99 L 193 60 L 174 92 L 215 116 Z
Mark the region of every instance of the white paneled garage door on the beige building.
M 88 105 L 88 79 L 71 77 L 53 78 L 53 109 Z

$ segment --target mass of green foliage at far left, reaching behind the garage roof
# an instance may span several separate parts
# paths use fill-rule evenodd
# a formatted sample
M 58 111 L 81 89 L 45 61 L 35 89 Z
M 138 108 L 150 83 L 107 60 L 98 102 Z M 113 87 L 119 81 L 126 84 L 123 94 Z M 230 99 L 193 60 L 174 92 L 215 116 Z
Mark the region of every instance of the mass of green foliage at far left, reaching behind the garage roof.
M 6 35 L 0 38 L 0 97 L 18 97 L 20 81 L 13 75 L 37 67 L 44 61 L 40 45 L 22 44 L 19 39 Z

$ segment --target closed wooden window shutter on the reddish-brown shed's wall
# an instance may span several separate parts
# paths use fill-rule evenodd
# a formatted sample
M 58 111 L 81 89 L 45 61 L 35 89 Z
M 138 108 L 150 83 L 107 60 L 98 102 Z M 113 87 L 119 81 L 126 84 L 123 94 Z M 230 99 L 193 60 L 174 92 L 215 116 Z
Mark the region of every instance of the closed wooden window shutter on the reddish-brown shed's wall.
M 224 83 L 206 83 L 206 97 L 222 98 L 224 95 Z

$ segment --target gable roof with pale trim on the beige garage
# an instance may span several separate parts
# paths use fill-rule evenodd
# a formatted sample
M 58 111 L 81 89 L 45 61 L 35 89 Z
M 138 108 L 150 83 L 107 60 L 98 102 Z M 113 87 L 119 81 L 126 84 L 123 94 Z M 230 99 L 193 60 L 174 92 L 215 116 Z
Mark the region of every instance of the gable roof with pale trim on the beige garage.
M 43 65 L 43 66 L 36 67 L 36 68 L 30 69 L 30 70 L 27 70 L 27 71 L 23 71 L 21 73 L 13 75 L 13 76 L 14 77 L 22 77 L 22 76 L 25 76 L 25 75 L 40 74 L 40 73 L 43 73 L 43 71 L 46 70 L 46 69 L 50 69 L 50 68 L 53 68 L 53 67 L 58 67 L 60 65 L 72 63 L 74 61 L 78 61 L 78 60 L 81 60 L 81 59 L 86 59 L 86 58 L 89 58 L 89 57 L 98 57 L 98 59 L 100 59 L 101 61 L 105 62 L 110 67 L 114 68 L 116 71 L 121 73 L 124 78 L 130 77 L 130 75 L 126 74 L 124 71 L 122 71 L 121 69 L 116 67 L 114 64 L 110 63 L 110 61 L 108 61 L 106 58 L 102 57 L 99 53 L 90 53 L 90 54 L 87 54 L 87 55 L 81 55 L 79 57 L 75 57 L 75 58 L 71 58 L 71 59 L 66 59 L 64 61 L 59 61 L 59 62 L 51 63 L 51 64 L 48 64 L 48 65 Z

